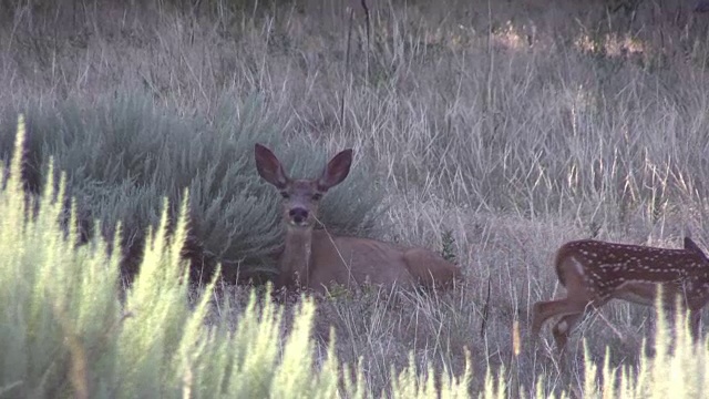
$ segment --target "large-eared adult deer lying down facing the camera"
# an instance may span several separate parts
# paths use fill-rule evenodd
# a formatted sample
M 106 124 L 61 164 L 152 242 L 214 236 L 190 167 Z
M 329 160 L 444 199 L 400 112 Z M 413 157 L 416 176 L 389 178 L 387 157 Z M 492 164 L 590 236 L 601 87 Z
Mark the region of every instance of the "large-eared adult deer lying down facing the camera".
M 450 288 L 461 278 L 458 266 L 432 250 L 400 248 L 381 241 L 336 236 L 316 229 L 318 204 L 349 174 L 352 150 L 335 155 L 317 178 L 292 180 L 276 155 L 255 145 L 256 168 L 282 196 L 285 248 L 278 257 L 276 288 L 307 288 L 325 294 L 333 284 L 349 289 L 386 287 Z

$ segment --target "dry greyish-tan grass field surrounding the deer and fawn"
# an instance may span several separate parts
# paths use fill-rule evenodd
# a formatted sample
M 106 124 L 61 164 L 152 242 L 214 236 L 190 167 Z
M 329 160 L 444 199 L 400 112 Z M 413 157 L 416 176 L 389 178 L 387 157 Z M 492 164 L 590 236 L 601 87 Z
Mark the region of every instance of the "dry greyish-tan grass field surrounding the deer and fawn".
M 338 356 L 361 358 L 374 391 L 391 386 L 390 369 L 410 350 L 417 364 L 455 374 L 469 350 L 475 370 L 504 366 L 527 393 L 540 375 L 549 389 L 580 387 L 583 350 L 574 347 L 563 375 L 548 334 L 536 349 L 524 338 L 532 304 L 559 289 L 554 250 L 592 236 L 670 247 L 691 233 L 709 243 L 707 21 L 649 2 L 635 20 L 596 3 L 493 3 L 372 1 L 371 41 L 357 9 L 349 64 L 338 1 L 194 16 L 162 2 L 20 7 L 2 24 L 0 105 L 78 98 L 90 106 L 147 91 L 209 116 L 223 96 L 258 93 L 284 140 L 353 146 L 377 165 L 372 184 L 387 187 L 390 205 L 381 238 L 440 248 L 451 232 L 466 274 L 438 297 L 325 300 L 323 356 L 332 325 Z M 244 288 L 228 291 L 244 303 Z M 618 304 L 600 315 L 580 327 L 593 357 L 607 345 L 612 365 L 637 361 L 651 310 Z

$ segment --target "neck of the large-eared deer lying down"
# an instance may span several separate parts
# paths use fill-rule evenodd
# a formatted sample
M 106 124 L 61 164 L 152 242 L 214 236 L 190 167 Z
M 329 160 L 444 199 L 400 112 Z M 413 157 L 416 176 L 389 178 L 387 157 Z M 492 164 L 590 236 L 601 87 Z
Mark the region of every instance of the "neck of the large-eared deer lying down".
M 286 229 L 286 247 L 281 257 L 280 273 L 291 283 L 308 286 L 312 262 L 312 228 Z M 299 282 L 296 282 L 296 278 Z

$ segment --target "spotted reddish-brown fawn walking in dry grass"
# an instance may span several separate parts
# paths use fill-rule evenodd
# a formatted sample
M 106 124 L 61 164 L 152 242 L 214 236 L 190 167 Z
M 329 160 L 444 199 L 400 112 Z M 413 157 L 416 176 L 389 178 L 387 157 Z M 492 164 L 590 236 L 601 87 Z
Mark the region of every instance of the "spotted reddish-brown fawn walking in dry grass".
M 566 287 L 563 299 L 533 306 L 531 331 L 537 337 L 548 318 L 561 316 L 552 328 L 559 352 L 587 309 L 610 299 L 653 306 L 661 286 L 662 307 L 674 308 L 677 297 L 689 311 L 689 327 L 699 337 L 701 309 L 709 303 L 709 258 L 689 237 L 681 249 L 615 244 L 594 239 L 568 242 L 556 252 L 556 275 Z

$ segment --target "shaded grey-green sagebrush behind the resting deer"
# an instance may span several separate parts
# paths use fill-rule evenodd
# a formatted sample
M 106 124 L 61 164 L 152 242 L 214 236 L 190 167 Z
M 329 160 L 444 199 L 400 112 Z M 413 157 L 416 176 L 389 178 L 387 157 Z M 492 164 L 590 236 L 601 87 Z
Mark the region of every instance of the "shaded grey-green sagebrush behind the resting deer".
M 112 242 L 121 222 L 123 268 L 130 274 L 140 263 L 144 232 L 160 219 L 162 198 L 179 204 L 188 187 L 185 249 L 193 272 L 209 276 L 217 262 L 225 265 L 224 275 L 232 282 L 238 267 L 247 275 L 273 272 L 270 256 L 282 242 L 279 196 L 256 173 L 254 143 L 274 147 L 286 165 L 292 165 L 295 176 L 319 173 L 331 154 L 305 140 L 289 140 L 286 145 L 261 108 L 258 98 L 236 106 L 224 102 L 214 122 L 208 122 L 157 110 L 140 95 L 91 106 L 74 101 L 55 108 L 28 106 L 25 187 L 39 191 L 39 182 L 45 180 L 42 160 L 53 156 L 59 168 L 69 171 L 66 190 L 79 204 L 82 239 L 89 239 L 93 219 L 99 218 L 104 222 L 101 233 Z M 6 110 L 0 126 L 0 154 L 6 160 L 14 122 L 9 112 L 14 110 Z M 326 196 L 321 219 L 335 232 L 371 233 L 381 200 L 367 165 L 358 165 L 341 187 Z M 176 211 L 172 206 L 168 215 Z

